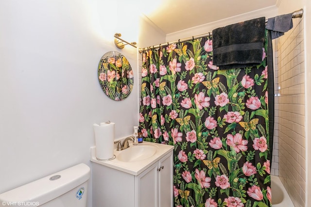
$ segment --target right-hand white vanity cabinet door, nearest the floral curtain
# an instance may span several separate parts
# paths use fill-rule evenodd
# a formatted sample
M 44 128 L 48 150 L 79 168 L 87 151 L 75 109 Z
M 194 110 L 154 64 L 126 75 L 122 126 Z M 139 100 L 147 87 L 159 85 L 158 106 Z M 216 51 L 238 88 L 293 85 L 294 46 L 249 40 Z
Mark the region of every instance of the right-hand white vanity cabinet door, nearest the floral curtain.
M 173 207 L 173 152 L 158 161 L 159 207 Z

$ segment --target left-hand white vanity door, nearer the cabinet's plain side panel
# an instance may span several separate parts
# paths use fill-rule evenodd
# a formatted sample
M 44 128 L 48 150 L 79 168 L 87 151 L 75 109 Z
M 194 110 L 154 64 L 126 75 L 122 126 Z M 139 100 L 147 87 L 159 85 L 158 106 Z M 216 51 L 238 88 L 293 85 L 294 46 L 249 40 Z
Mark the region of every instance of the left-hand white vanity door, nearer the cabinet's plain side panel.
M 136 207 L 157 207 L 157 167 L 158 162 L 135 176 Z M 171 206 L 172 207 L 172 206 Z

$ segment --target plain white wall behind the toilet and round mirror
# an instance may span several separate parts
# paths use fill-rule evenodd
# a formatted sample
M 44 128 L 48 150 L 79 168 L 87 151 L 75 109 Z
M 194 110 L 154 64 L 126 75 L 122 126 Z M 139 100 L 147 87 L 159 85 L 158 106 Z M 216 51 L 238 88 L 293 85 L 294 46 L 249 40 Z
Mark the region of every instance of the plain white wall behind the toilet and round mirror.
M 114 32 L 127 31 L 107 4 L 1 0 L 0 193 L 77 163 L 90 165 L 94 123 L 115 122 L 116 139 L 138 125 L 137 49 L 115 47 Z M 108 98 L 98 81 L 98 63 L 110 50 L 134 70 L 133 91 L 123 101 Z

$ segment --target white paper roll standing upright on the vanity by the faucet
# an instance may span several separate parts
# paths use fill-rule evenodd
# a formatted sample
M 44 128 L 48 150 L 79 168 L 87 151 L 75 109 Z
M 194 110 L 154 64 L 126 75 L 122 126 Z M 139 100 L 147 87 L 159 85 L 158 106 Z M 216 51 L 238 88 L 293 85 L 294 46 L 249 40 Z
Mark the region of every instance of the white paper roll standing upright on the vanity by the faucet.
M 94 124 L 96 158 L 101 160 L 113 159 L 113 147 L 115 140 L 115 123 L 103 122 Z

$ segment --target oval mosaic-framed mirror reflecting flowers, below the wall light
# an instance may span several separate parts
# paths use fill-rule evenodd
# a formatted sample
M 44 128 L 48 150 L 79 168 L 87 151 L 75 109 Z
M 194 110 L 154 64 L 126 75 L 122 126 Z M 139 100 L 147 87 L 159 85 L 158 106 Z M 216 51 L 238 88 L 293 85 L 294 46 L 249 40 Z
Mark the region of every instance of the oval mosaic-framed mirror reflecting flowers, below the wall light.
M 128 60 L 120 52 L 109 51 L 103 55 L 99 62 L 98 80 L 109 98 L 121 101 L 132 92 L 133 70 Z

